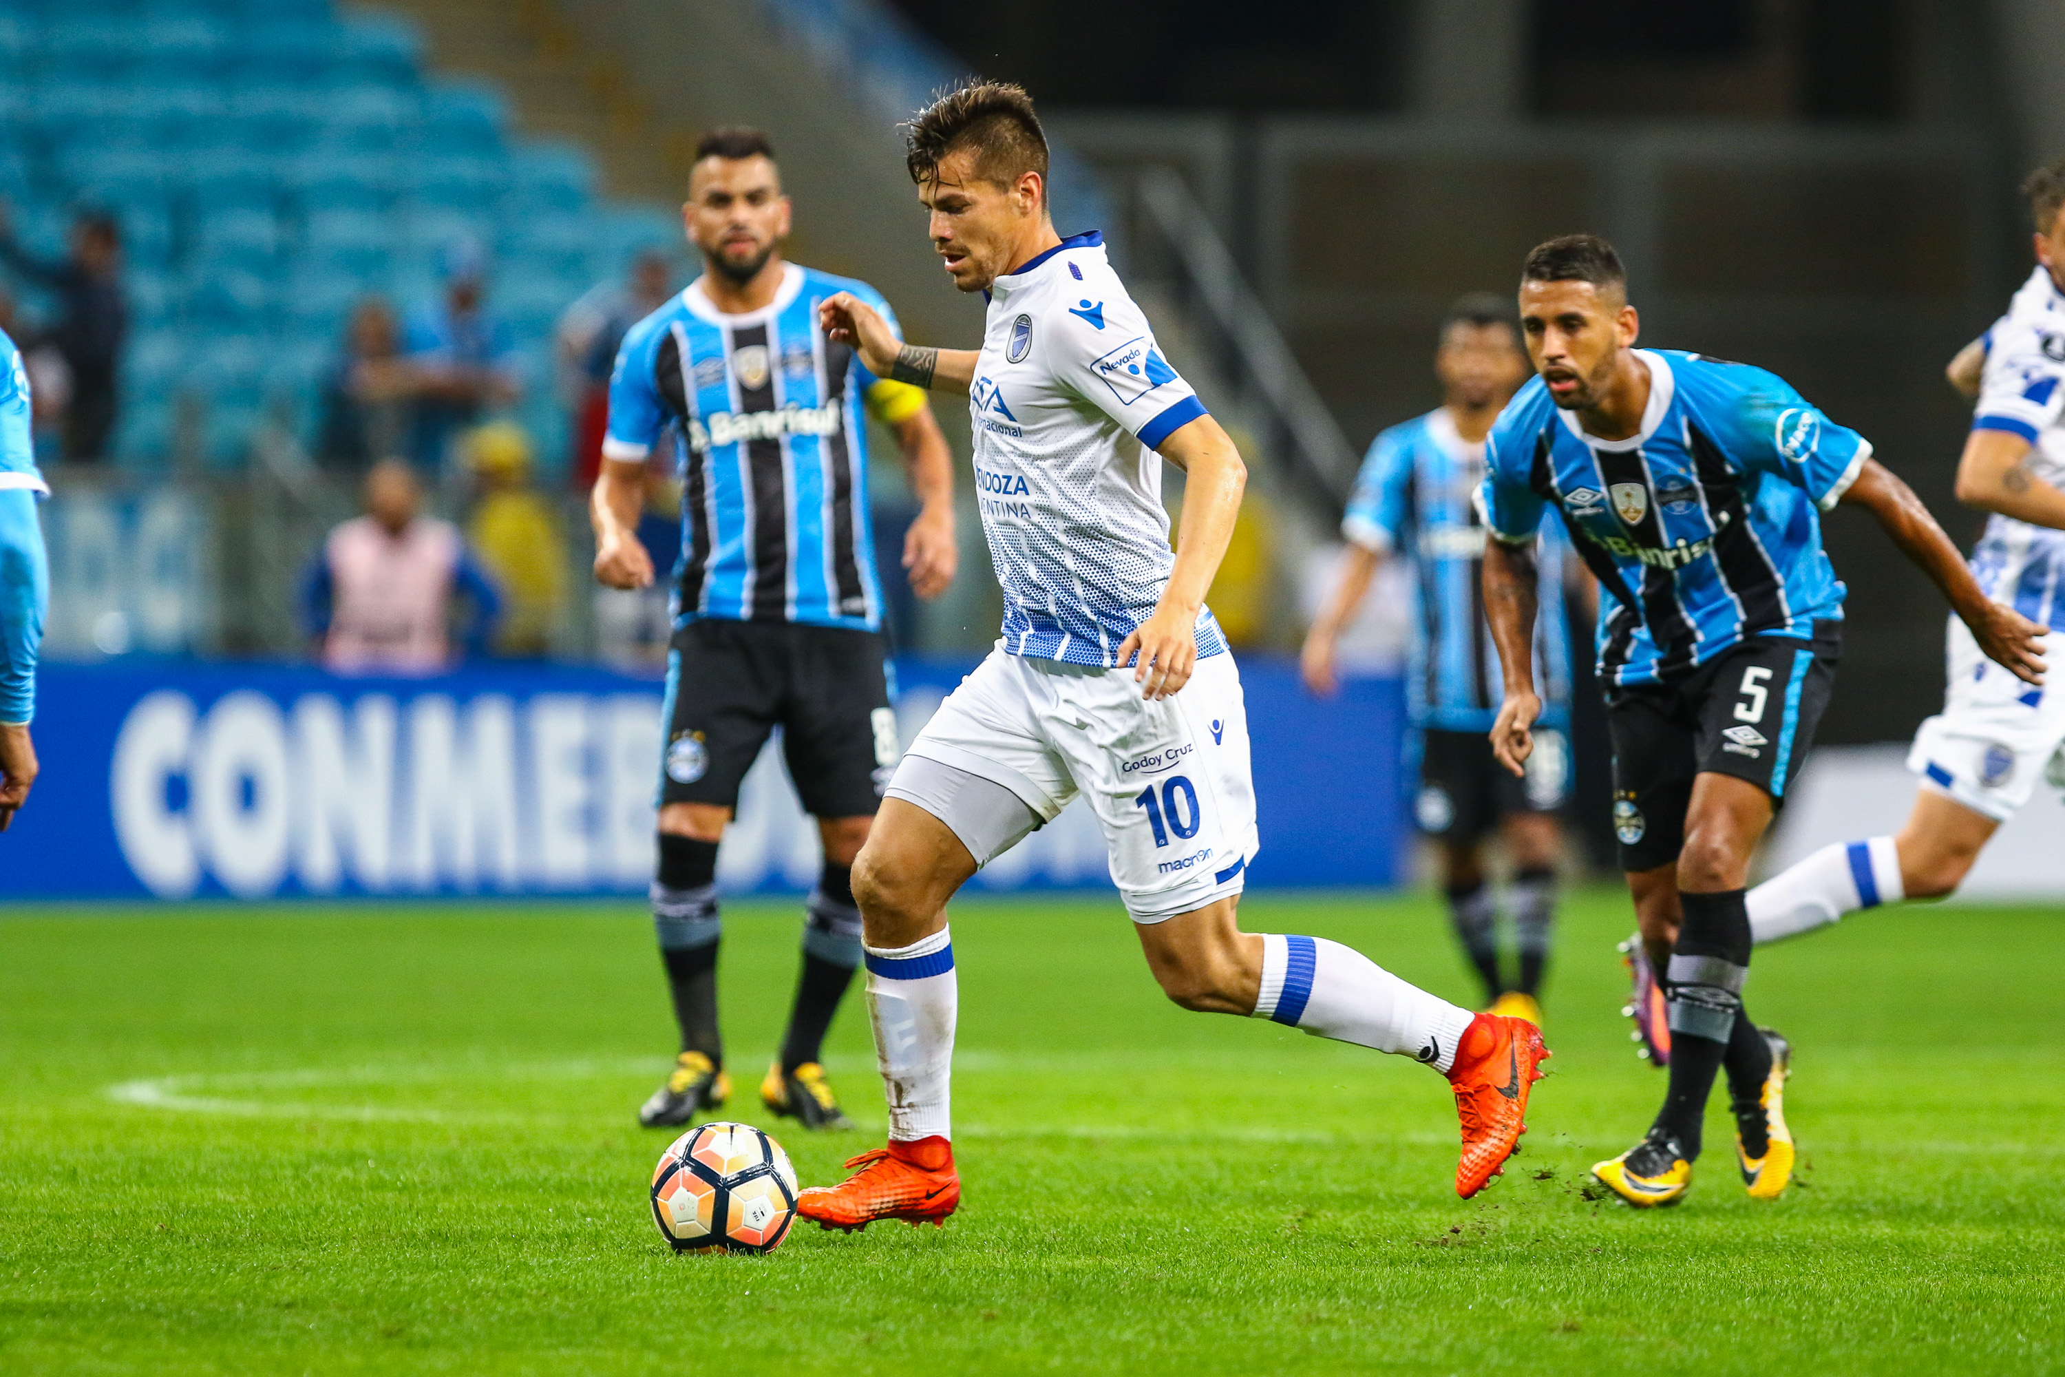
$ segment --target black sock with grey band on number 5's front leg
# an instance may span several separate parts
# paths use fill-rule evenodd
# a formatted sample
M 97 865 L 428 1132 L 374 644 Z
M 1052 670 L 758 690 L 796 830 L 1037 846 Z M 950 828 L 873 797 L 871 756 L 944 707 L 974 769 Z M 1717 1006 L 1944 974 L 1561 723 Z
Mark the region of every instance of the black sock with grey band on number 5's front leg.
M 1679 1142 L 1685 1160 L 1699 1156 L 1699 1129 L 1714 1076 L 1743 1012 L 1749 974 L 1749 904 L 1745 890 L 1683 894 L 1685 921 L 1671 948 L 1671 1088 L 1652 1131 Z

